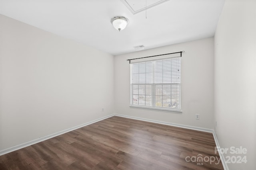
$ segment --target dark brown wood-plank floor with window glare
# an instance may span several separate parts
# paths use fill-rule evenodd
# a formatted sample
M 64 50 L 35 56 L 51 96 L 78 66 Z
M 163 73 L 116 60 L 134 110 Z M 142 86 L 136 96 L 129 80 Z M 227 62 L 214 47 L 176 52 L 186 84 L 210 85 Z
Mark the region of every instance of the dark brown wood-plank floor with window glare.
M 114 116 L 2 155 L 0 170 L 223 170 L 215 146 L 211 133 Z

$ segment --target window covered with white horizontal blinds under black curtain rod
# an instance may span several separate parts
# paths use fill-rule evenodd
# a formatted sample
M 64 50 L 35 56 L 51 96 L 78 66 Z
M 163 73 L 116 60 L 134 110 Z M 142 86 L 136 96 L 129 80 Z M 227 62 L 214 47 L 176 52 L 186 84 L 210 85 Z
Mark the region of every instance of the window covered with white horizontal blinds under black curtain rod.
M 181 111 L 181 57 L 131 64 L 131 106 Z

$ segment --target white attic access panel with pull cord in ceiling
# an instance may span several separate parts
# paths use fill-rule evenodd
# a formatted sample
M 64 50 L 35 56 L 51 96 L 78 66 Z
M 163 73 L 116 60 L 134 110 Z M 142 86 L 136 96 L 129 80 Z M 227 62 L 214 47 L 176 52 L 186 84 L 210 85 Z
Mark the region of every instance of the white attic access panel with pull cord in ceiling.
M 121 0 L 124 5 L 132 12 L 132 14 L 138 14 L 147 9 L 162 4 L 168 0 Z

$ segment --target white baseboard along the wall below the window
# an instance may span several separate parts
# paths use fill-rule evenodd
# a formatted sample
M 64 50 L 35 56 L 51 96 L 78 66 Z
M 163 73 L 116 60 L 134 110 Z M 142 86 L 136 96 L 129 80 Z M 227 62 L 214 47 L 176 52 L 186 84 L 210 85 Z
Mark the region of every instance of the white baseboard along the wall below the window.
M 127 116 L 127 115 L 115 114 L 115 116 L 126 117 L 126 118 L 130 118 L 130 119 L 141 120 L 141 121 L 148 121 L 148 122 L 152 122 L 152 123 L 159 123 L 159 124 L 162 124 L 162 125 L 170 125 L 170 126 L 175 126 L 175 127 L 182 127 L 182 128 L 185 128 L 185 129 L 192 129 L 192 130 L 196 130 L 196 131 L 203 131 L 203 132 L 213 133 L 213 129 L 207 129 L 207 128 L 202 128 L 202 127 L 180 125 L 180 124 L 176 124 L 176 123 L 169 123 L 169 122 L 157 121 L 157 120 L 152 120 L 152 119 L 144 119 L 144 118 L 140 118 L 140 117 L 133 117 L 133 116 Z

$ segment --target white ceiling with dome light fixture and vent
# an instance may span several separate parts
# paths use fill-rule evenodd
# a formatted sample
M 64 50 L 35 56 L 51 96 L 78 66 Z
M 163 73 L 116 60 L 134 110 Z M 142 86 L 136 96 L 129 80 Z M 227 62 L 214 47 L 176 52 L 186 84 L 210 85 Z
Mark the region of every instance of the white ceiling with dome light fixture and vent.
M 151 49 L 212 37 L 223 5 L 224 0 L 169 0 L 133 15 L 121 0 L 0 0 L 0 14 L 119 55 L 138 45 Z M 114 29 L 114 16 L 128 18 L 126 29 Z

